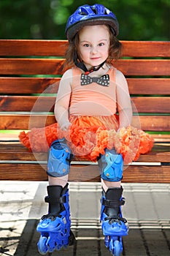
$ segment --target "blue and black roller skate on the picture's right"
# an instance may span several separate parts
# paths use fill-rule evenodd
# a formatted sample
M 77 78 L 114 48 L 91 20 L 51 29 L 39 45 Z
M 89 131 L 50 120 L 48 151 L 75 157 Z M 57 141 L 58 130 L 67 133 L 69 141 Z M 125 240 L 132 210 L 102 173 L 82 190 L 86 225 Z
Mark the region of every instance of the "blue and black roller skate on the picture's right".
M 123 252 L 122 236 L 128 235 L 128 222 L 123 218 L 121 206 L 123 188 L 109 188 L 102 192 L 101 197 L 101 228 L 104 234 L 104 244 L 112 255 L 120 256 Z

